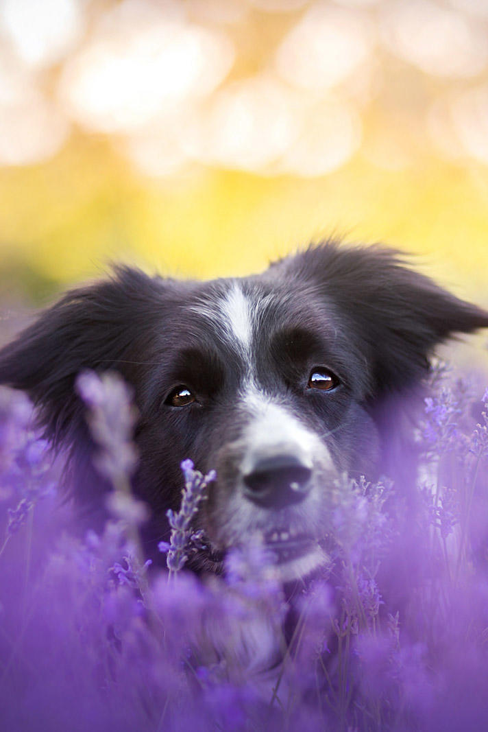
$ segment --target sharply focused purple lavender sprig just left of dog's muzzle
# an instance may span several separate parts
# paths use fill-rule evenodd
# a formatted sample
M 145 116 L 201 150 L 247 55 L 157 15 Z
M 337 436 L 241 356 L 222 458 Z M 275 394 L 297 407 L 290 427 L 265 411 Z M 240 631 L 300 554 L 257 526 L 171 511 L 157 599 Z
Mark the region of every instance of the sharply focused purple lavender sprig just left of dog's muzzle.
M 206 488 L 217 477 L 214 470 L 203 476 L 200 471 L 194 469 L 192 460 L 183 460 L 181 470 L 184 474 L 181 507 L 177 513 L 171 509 L 166 512 L 171 527 L 170 543 L 159 542 L 158 545 L 159 551 L 167 553 L 166 564 L 170 572 L 179 572 L 187 562 L 190 539 L 192 537 L 198 541 L 201 539 L 201 534 L 192 531 L 192 521 L 198 512 L 200 501 L 206 498 L 204 495 Z

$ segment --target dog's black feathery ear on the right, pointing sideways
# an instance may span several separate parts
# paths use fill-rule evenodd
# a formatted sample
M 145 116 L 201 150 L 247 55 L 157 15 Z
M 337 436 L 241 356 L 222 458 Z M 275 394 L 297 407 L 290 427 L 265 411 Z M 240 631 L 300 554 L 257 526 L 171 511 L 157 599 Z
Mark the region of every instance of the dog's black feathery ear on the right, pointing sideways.
M 424 375 L 432 349 L 457 333 L 488 327 L 488 312 L 413 272 L 380 246 L 309 247 L 278 266 L 316 283 L 338 307 L 369 358 L 373 394 L 397 392 Z

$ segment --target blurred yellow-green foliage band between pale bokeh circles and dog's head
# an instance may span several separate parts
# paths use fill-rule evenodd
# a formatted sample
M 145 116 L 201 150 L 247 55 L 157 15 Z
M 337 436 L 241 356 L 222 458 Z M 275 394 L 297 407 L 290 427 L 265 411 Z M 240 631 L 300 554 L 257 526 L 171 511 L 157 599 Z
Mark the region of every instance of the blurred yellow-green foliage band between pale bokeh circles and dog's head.
M 356 156 L 320 178 L 201 169 L 152 180 L 100 138 L 53 160 L 0 168 L 1 278 L 33 296 L 108 261 L 162 273 L 244 275 L 331 233 L 420 255 L 443 283 L 484 297 L 488 170 L 429 157 L 385 171 Z M 35 274 L 34 274 L 35 273 Z M 462 294 L 462 292 L 461 292 Z

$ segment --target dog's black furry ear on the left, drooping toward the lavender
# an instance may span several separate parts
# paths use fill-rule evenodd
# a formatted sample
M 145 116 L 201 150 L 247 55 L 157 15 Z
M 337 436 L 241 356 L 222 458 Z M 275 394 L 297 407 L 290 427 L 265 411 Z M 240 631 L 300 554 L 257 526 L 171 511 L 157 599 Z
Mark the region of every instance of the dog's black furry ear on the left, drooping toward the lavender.
M 76 376 L 115 369 L 134 381 L 163 291 L 162 280 L 118 267 L 109 280 L 68 292 L 0 351 L 0 384 L 29 394 L 54 441 L 70 438 L 83 422 Z

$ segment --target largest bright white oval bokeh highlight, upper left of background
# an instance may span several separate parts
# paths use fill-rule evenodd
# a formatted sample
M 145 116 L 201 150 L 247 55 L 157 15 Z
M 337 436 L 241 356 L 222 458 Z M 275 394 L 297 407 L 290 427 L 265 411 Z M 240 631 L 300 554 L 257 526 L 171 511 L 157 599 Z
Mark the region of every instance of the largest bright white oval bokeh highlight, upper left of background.
M 136 18 L 140 21 L 140 18 Z M 61 76 L 73 118 L 97 132 L 131 132 L 215 89 L 233 64 L 225 35 L 151 10 L 147 22 L 108 22 Z M 120 21 L 120 18 L 117 18 Z M 144 18 L 143 18 L 144 20 Z

